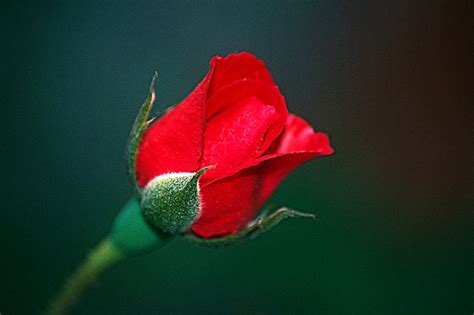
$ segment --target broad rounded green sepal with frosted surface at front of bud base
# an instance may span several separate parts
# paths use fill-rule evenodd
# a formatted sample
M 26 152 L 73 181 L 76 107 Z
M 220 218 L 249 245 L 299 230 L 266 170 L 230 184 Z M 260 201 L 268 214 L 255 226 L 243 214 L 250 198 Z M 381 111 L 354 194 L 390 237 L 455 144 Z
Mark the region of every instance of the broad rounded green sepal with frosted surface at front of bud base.
M 160 232 L 178 234 L 187 231 L 199 215 L 199 177 L 197 173 L 171 173 L 156 177 L 142 194 L 145 220 Z

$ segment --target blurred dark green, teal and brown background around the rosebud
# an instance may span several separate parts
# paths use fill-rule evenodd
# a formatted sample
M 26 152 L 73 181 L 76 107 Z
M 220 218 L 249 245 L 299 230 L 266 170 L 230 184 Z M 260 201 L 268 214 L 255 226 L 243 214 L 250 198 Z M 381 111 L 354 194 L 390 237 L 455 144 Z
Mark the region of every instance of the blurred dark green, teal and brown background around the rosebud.
M 214 55 L 263 59 L 336 154 L 272 203 L 318 215 L 222 250 L 175 241 L 73 314 L 472 314 L 472 1 L 3 1 L 0 313 L 37 314 L 132 193 L 153 70 L 178 103 Z

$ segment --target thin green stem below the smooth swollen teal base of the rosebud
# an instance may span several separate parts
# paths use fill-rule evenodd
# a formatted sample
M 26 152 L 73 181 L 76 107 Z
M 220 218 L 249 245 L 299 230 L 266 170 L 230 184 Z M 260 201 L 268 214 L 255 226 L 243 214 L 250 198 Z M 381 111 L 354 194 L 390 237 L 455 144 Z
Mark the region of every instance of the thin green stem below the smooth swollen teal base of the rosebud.
M 108 239 L 100 242 L 68 279 L 63 289 L 54 297 L 46 314 L 66 314 L 87 285 L 93 282 L 104 270 L 124 258 L 125 255 Z

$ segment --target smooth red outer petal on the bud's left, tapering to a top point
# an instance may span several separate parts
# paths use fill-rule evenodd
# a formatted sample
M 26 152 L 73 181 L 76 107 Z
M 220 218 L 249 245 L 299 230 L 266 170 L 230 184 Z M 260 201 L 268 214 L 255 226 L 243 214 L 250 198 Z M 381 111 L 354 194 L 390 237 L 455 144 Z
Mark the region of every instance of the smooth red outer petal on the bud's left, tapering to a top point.
M 172 111 L 145 133 L 138 149 L 137 180 L 144 187 L 158 175 L 199 169 L 206 117 L 206 100 L 214 62 L 203 81 Z

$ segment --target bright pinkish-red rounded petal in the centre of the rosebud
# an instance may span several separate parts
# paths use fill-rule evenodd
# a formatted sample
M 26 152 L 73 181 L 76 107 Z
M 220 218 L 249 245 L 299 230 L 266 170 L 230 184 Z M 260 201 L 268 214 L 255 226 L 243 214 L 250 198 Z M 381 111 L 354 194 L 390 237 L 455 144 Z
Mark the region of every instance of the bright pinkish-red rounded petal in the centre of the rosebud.
M 201 166 L 216 167 L 204 178 L 226 176 L 261 156 L 282 132 L 287 116 L 274 85 L 245 79 L 221 89 L 208 102 Z

